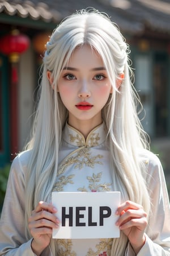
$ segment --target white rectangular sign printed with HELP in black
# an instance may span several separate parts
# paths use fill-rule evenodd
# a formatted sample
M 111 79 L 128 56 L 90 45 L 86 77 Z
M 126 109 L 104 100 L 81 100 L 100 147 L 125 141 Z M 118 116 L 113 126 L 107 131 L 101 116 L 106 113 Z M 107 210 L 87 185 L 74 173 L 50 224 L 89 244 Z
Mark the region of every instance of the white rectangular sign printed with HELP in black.
M 120 237 L 115 225 L 120 192 L 52 192 L 52 203 L 60 221 L 53 238 Z

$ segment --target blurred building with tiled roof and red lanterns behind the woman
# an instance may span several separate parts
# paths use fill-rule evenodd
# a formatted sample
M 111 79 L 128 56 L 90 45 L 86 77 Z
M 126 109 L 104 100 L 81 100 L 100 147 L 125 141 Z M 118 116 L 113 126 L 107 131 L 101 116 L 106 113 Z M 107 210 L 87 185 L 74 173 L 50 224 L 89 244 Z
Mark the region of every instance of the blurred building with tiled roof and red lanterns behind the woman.
M 135 87 L 146 112 L 143 127 L 168 174 L 170 0 L 0 0 L 0 167 L 29 138 L 49 35 L 67 15 L 87 7 L 111 16 L 130 44 Z

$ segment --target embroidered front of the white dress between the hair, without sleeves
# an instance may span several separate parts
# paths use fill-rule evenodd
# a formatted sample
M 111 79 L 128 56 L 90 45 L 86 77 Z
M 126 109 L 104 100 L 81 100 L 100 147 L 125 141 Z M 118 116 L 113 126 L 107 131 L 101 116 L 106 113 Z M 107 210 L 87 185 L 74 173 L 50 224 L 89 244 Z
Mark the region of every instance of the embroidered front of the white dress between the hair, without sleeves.
M 86 140 L 79 131 L 66 125 L 63 131 L 62 150 L 59 154 L 61 162 L 53 191 L 113 191 L 105 137 L 104 124 L 92 130 Z M 56 242 L 58 256 L 107 256 L 111 254 L 112 238 L 86 241 L 56 240 Z

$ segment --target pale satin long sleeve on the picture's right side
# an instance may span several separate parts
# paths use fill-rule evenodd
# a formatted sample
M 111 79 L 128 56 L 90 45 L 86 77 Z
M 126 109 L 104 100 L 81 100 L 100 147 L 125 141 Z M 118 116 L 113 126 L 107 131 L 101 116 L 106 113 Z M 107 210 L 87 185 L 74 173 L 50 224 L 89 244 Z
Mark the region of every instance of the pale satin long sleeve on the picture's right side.
M 148 221 L 146 243 L 138 256 L 170 256 L 170 208 L 164 173 L 159 159 L 151 154 L 146 178 L 152 213 Z M 135 256 L 128 245 L 126 256 Z

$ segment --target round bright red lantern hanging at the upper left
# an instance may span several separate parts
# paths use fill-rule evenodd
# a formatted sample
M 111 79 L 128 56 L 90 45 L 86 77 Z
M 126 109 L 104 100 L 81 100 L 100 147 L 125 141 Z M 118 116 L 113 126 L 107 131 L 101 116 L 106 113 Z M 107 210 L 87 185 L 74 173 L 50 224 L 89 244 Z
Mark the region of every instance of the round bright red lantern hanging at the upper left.
M 19 30 L 12 30 L 11 34 L 3 36 L 0 40 L 0 51 L 8 55 L 12 63 L 18 62 L 19 54 L 29 47 L 29 38 L 20 34 Z

